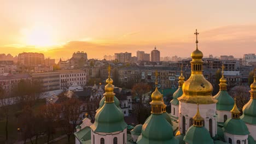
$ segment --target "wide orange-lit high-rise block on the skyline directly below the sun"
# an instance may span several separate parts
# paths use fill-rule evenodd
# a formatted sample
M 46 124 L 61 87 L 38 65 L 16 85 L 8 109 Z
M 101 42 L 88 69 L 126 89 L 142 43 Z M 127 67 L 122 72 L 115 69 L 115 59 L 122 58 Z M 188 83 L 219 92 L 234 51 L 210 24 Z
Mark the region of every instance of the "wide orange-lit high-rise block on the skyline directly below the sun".
M 18 55 L 20 65 L 40 65 L 44 64 L 44 54 L 37 52 L 23 52 Z

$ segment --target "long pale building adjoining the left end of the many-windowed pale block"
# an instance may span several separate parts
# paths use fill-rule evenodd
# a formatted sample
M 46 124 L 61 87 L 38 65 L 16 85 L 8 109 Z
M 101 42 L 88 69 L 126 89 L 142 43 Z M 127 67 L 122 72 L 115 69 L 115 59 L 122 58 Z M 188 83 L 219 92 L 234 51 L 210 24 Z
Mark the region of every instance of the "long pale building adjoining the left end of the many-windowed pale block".
M 42 82 L 43 91 L 54 91 L 60 89 L 60 72 L 48 71 L 31 74 L 33 80 Z

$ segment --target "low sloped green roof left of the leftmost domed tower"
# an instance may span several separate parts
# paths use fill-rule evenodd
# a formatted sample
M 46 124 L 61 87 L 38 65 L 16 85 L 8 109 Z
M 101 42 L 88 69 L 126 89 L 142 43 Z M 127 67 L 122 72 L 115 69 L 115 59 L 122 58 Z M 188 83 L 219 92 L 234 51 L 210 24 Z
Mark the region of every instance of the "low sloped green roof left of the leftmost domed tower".
M 82 130 L 75 132 L 74 135 L 81 143 L 85 144 L 86 141 L 91 139 L 91 128 L 85 127 Z

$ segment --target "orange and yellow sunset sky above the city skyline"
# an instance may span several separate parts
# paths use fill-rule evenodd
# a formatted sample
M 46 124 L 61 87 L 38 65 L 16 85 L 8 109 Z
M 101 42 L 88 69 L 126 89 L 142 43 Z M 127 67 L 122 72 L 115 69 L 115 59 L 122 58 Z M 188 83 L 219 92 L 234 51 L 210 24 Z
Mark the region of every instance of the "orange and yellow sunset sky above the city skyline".
M 43 52 L 67 59 L 89 58 L 156 45 L 161 57 L 256 52 L 256 1 L 1 0 L 0 53 Z

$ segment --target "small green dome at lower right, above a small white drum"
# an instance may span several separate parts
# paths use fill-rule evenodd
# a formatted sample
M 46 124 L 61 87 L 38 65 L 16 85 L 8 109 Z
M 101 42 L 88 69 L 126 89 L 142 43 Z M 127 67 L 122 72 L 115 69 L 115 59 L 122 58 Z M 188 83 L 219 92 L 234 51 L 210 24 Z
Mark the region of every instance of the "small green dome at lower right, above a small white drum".
M 223 126 L 223 131 L 232 135 L 248 135 L 248 128 L 240 118 L 229 118 Z

